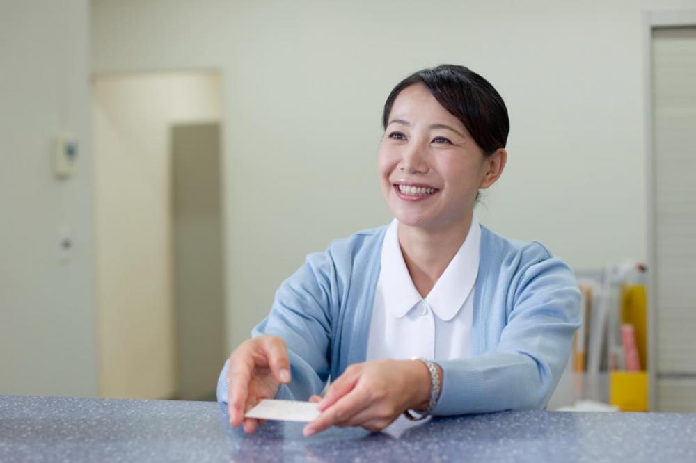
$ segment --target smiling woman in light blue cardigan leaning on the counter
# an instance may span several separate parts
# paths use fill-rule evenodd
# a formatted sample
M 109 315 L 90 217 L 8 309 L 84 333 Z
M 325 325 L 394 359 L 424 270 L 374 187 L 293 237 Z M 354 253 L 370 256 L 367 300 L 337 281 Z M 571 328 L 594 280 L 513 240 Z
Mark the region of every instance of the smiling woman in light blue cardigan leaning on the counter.
M 544 408 L 580 325 L 567 265 L 479 225 L 480 189 L 505 168 L 503 99 L 463 66 L 404 79 L 379 147 L 390 225 L 337 240 L 278 289 L 218 382 L 230 423 L 263 398 L 312 400 L 331 425 Z M 331 378 L 324 398 L 319 394 Z

